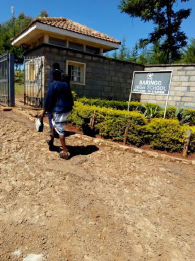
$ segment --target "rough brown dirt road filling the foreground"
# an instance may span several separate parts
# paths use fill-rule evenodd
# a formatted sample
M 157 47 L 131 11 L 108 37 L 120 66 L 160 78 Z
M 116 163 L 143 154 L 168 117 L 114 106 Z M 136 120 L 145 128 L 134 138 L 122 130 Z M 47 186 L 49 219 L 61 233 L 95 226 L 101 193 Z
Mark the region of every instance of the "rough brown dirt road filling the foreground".
M 28 120 L 0 129 L 1 261 L 195 260 L 194 166 L 73 135 L 64 161 Z

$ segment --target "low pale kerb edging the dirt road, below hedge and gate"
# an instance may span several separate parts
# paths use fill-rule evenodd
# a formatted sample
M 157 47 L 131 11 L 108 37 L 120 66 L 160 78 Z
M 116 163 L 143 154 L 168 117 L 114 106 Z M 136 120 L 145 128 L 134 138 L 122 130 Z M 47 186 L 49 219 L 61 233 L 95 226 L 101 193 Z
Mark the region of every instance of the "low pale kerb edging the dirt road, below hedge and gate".
M 12 111 L 16 114 L 23 115 L 24 117 L 28 118 L 32 122 L 36 121 L 35 116 L 30 115 L 29 112 L 25 112 L 24 110 L 21 110 L 21 109 L 19 110 L 17 108 L 13 108 Z M 41 110 L 40 110 L 40 112 L 41 112 Z M 38 113 L 38 111 L 37 111 L 37 113 Z M 44 125 L 49 128 L 49 124 L 44 123 Z M 170 161 L 170 162 L 177 162 L 177 163 L 195 165 L 195 160 L 181 159 L 181 158 L 177 158 L 177 157 L 174 157 L 174 156 L 160 154 L 160 153 L 155 152 L 155 151 L 148 151 L 148 150 L 143 150 L 143 149 L 134 148 L 134 147 L 130 147 L 130 146 L 125 146 L 125 145 L 121 145 L 121 144 L 118 144 L 118 143 L 115 143 L 115 142 L 112 142 L 112 141 L 106 141 L 106 140 L 103 140 L 103 139 L 100 139 L 100 138 L 93 138 L 93 137 L 89 137 L 89 136 L 83 135 L 83 134 L 74 134 L 73 137 L 80 139 L 80 140 L 87 141 L 87 142 L 93 142 L 94 144 L 97 144 L 99 146 L 108 146 L 108 147 L 111 147 L 113 149 L 129 152 L 129 153 L 147 155 L 150 158 L 167 160 L 167 161 Z

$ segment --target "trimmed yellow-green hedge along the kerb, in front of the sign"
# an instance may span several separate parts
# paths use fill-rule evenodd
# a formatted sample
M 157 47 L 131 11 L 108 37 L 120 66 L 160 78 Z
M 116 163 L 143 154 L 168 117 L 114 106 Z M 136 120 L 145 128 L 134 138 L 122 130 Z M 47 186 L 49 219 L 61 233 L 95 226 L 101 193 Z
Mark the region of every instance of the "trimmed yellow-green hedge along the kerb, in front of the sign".
M 68 123 L 85 130 L 95 111 L 94 131 L 104 138 L 123 141 L 127 124 L 130 125 L 128 143 L 136 146 L 149 144 L 151 148 L 181 152 L 186 141 L 187 128 L 192 129 L 190 151 L 195 151 L 195 127 L 181 126 L 178 120 L 155 118 L 148 123 L 143 114 L 84 105 L 75 101 Z

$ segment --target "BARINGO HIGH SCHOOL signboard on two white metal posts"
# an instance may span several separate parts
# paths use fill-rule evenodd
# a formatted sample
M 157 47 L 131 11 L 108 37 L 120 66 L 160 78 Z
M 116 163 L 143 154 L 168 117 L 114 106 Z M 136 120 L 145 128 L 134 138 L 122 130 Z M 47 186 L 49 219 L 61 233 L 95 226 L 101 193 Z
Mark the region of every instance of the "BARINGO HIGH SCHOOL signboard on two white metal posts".
M 166 116 L 169 93 L 171 88 L 173 71 L 134 71 L 131 91 L 129 94 L 128 111 L 132 93 L 148 94 L 148 95 L 167 95 L 164 119 Z M 139 77 L 138 77 L 139 75 Z

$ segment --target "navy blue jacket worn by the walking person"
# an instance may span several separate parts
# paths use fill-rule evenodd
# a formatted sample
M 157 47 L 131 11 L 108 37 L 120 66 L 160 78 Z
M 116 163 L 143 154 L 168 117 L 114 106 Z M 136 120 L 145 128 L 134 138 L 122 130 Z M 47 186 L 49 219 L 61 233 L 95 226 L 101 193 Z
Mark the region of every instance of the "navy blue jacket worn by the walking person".
M 70 112 L 73 108 L 73 96 L 69 84 L 53 81 L 47 90 L 44 108 L 48 112 Z

